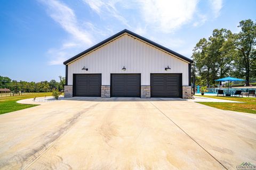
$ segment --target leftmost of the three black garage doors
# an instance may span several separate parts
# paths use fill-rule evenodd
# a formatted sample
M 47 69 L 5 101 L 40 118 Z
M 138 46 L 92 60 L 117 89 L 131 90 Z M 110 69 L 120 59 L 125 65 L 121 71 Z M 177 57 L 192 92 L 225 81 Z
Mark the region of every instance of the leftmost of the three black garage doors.
M 101 74 L 74 74 L 73 82 L 74 96 L 101 96 Z

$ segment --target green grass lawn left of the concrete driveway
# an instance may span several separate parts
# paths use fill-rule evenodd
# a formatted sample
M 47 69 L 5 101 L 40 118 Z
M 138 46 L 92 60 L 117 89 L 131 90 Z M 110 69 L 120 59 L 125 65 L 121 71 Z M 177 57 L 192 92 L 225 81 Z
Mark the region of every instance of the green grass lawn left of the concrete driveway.
M 19 111 L 21 109 L 38 106 L 38 105 L 19 104 L 19 103 L 16 103 L 16 101 L 22 100 L 22 99 L 34 98 L 34 97 L 44 97 L 44 96 L 52 96 L 52 92 L 38 92 L 34 94 L 26 94 L 21 96 L 0 97 L 0 114 Z

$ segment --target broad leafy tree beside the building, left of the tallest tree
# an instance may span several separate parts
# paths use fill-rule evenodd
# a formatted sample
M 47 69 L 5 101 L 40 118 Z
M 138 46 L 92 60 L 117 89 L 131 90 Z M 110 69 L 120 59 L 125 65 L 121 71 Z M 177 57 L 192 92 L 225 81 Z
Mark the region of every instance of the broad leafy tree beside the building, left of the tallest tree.
M 233 61 L 231 38 L 230 30 L 215 29 L 212 36 L 208 39 L 202 38 L 196 44 L 192 58 L 201 84 L 209 87 L 215 83 L 215 79 L 229 74 Z

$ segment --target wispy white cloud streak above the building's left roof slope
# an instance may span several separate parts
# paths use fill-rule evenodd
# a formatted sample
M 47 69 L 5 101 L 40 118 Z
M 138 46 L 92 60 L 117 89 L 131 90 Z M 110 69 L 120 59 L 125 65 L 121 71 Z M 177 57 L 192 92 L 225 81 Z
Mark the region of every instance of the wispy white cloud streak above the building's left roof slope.
M 55 0 L 40 1 L 47 7 L 51 18 L 69 33 L 70 38 L 58 48 L 48 50 L 50 65 L 62 64 L 65 60 L 75 55 L 85 47 L 93 44 L 93 38 L 87 30 L 91 30 L 91 23 L 79 23 L 74 11 L 66 4 Z

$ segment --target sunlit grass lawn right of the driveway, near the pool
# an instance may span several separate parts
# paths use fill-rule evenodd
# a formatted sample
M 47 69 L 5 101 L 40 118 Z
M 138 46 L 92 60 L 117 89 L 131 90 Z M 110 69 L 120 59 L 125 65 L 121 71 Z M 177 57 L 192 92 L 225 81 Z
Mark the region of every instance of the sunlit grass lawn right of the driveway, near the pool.
M 246 112 L 256 114 L 256 98 L 255 97 L 217 97 L 217 96 L 200 96 L 200 97 L 209 97 L 215 99 L 225 99 L 225 100 L 234 100 L 242 101 L 244 103 L 217 103 L 217 102 L 198 102 L 203 105 L 220 108 L 228 111 L 236 112 Z

